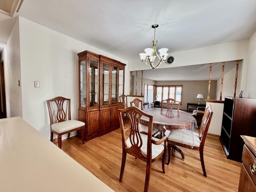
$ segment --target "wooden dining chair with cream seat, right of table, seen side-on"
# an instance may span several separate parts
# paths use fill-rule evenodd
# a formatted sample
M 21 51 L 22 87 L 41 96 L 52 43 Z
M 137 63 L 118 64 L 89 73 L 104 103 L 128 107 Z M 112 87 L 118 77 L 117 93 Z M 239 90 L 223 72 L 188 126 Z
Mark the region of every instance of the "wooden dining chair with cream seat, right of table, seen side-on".
M 184 148 L 197 150 L 200 153 L 200 160 L 203 169 L 204 176 L 206 176 L 206 170 L 204 166 L 204 142 L 212 119 L 212 106 L 208 105 L 204 111 L 204 117 L 199 129 L 199 132 L 193 132 L 192 130 L 172 130 L 167 138 L 168 142 L 168 162 L 171 159 L 172 146 L 181 146 Z M 184 160 L 184 158 L 183 158 Z

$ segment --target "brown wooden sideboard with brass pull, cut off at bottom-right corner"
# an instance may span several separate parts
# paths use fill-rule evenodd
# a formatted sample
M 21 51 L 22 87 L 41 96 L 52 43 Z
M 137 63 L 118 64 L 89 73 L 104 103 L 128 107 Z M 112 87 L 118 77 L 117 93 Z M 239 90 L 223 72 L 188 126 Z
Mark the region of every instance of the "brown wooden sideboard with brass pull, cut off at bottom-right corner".
M 242 167 L 238 192 L 256 191 L 256 138 L 241 136 L 244 140 Z

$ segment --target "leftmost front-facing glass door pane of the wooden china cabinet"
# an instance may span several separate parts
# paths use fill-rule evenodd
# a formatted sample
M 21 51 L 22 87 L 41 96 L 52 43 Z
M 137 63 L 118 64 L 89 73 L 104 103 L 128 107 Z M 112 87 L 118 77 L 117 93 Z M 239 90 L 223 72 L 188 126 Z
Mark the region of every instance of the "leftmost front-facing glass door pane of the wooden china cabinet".
M 90 60 L 89 66 L 89 88 L 88 94 L 90 95 L 89 103 L 90 107 L 98 106 L 99 100 L 99 90 L 98 90 L 98 62 L 94 60 Z

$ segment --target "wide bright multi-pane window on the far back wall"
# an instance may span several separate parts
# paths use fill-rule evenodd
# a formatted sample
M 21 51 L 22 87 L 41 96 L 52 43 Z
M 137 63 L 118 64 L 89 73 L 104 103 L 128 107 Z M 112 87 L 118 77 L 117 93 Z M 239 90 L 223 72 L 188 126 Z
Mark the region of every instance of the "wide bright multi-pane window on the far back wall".
M 168 98 L 182 101 L 182 85 L 156 86 L 156 100 L 162 101 Z

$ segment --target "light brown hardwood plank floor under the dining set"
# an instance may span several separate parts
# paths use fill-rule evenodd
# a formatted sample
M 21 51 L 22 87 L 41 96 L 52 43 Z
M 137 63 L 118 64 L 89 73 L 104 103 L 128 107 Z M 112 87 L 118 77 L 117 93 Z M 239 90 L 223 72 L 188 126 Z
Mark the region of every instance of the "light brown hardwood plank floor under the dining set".
M 199 152 L 181 148 L 185 160 L 173 152 L 171 162 L 162 173 L 161 160 L 152 164 L 149 192 L 237 192 L 241 163 L 228 160 L 219 139 L 207 136 L 203 176 Z M 119 182 L 122 159 L 120 129 L 85 142 L 72 137 L 62 141 L 62 150 L 92 172 L 116 192 L 140 192 L 144 189 L 146 162 L 127 154 L 124 178 Z M 68 166 L 68 165 L 67 165 Z

